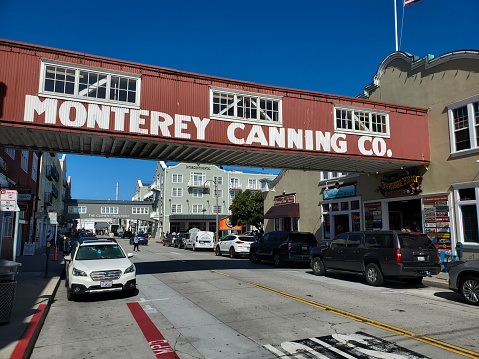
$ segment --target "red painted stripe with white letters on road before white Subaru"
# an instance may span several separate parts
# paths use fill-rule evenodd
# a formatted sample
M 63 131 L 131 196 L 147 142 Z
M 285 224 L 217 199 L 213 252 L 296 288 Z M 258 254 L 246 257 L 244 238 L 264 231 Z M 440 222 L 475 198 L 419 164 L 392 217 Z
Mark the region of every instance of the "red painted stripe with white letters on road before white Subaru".
M 168 344 L 165 337 L 153 324 L 150 317 L 145 313 L 139 303 L 127 303 L 133 318 L 145 336 L 148 345 L 158 359 L 180 359 L 173 348 Z

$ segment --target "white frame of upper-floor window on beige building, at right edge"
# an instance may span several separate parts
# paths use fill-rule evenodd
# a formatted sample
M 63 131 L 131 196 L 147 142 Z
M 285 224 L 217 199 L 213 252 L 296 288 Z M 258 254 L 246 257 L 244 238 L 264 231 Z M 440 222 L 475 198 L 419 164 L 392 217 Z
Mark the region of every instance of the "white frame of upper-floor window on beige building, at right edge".
M 451 148 L 451 156 L 462 156 L 469 155 L 471 153 L 479 152 L 479 143 L 477 136 L 479 135 L 479 117 L 475 119 L 474 114 L 474 104 L 479 102 L 479 95 L 467 98 L 465 100 L 455 102 L 447 106 L 447 114 L 449 119 L 449 144 Z M 479 105 L 478 105 L 479 106 Z M 455 128 L 454 128 L 454 110 L 457 110 L 461 107 L 467 108 L 467 118 L 469 126 L 469 141 L 470 147 L 464 150 L 456 149 L 456 138 L 455 138 Z

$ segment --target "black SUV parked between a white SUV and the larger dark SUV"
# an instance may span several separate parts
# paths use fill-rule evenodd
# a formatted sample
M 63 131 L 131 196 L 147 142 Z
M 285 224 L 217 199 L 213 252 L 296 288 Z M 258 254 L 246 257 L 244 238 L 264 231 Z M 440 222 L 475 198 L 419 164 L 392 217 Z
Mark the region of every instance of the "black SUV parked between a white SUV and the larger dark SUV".
M 309 232 L 269 232 L 251 243 L 249 260 L 252 263 L 270 260 L 276 267 L 281 267 L 285 262 L 307 263 L 311 248 L 317 245 L 316 237 Z

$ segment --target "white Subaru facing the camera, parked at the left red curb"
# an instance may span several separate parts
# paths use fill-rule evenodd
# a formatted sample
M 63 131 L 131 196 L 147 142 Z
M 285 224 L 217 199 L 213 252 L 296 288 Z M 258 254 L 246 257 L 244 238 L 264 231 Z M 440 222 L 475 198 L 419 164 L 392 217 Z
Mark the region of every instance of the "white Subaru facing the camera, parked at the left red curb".
M 72 246 L 64 257 L 67 298 L 98 292 L 136 289 L 136 268 L 118 243 L 110 240 L 85 240 Z

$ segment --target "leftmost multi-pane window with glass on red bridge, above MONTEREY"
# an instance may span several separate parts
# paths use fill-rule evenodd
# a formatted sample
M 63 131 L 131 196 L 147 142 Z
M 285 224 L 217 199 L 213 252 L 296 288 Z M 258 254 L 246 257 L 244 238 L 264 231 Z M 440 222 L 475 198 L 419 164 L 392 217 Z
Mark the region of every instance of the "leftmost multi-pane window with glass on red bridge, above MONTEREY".
M 81 100 L 139 106 L 140 76 L 73 64 L 44 61 L 40 92 Z

